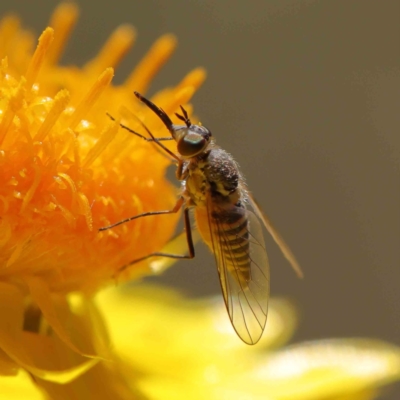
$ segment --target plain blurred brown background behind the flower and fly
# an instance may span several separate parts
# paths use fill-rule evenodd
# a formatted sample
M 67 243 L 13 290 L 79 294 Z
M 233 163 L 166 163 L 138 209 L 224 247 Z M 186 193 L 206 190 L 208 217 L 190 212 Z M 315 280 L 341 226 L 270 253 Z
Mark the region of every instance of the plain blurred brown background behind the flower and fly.
M 14 0 L 1 2 L 0 12 L 18 12 L 40 33 L 55 4 Z M 400 2 L 78 4 L 64 63 L 83 64 L 128 22 L 139 37 L 116 82 L 165 32 L 178 36 L 179 48 L 150 94 L 207 68 L 196 113 L 240 163 L 305 271 L 299 281 L 268 241 L 272 294 L 291 297 L 301 313 L 295 340 L 400 344 Z M 197 254 L 156 281 L 219 292 L 213 258 L 202 245 Z

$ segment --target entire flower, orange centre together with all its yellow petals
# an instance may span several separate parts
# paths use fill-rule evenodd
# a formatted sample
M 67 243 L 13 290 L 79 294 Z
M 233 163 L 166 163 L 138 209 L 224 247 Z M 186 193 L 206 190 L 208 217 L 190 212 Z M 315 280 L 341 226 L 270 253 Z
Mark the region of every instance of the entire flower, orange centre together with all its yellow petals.
M 118 28 L 83 68 L 60 67 L 76 17 L 75 6 L 61 4 L 36 50 L 15 17 L 0 23 L 0 398 L 369 400 L 399 380 L 400 349 L 379 341 L 279 350 L 297 324 L 284 300 L 271 301 L 266 333 L 249 347 L 221 298 L 194 301 L 146 286 L 90 297 L 122 265 L 168 248 L 175 228 L 177 216 L 167 216 L 98 232 L 175 202 L 168 160 L 106 116 L 126 115 L 126 106 L 164 136 L 131 93 L 145 92 L 175 39 L 160 38 L 115 87 L 111 67 L 133 29 Z M 154 101 L 172 115 L 204 77 L 196 69 Z M 119 280 L 169 264 L 137 264 Z

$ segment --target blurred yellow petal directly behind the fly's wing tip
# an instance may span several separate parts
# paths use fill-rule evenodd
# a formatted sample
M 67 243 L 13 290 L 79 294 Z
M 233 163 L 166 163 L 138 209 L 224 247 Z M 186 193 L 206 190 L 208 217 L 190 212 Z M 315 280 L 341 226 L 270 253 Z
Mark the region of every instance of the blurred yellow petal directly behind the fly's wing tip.
M 141 285 L 103 291 L 97 301 L 115 349 L 128 364 L 199 383 L 208 381 L 210 366 L 218 371 L 218 380 L 245 372 L 260 349 L 287 340 L 297 321 L 291 304 L 272 301 L 265 337 L 259 346 L 249 347 L 235 334 L 221 296 L 189 300 L 167 288 Z M 231 357 L 238 362 L 230 362 Z

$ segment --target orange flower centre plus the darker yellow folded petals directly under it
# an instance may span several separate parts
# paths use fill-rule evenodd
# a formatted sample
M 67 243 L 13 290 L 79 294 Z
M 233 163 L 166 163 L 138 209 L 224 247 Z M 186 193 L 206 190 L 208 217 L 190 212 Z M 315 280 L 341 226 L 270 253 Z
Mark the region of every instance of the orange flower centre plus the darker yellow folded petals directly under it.
M 120 26 L 83 68 L 61 67 L 77 14 L 76 6 L 61 4 L 36 50 L 16 17 L 0 23 L 0 374 L 23 367 L 57 382 L 111 357 L 88 296 L 114 283 L 124 264 L 164 246 L 178 218 L 145 218 L 98 231 L 175 203 L 176 189 L 165 178 L 169 161 L 120 130 L 106 112 L 118 118 L 124 105 L 155 136 L 165 136 L 132 92 L 146 91 L 176 40 L 161 37 L 126 82 L 112 86 L 113 67 L 135 31 Z M 173 113 L 204 78 L 196 69 L 154 100 Z M 129 124 L 142 129 L 134 119 Z M 150 272 L 141 263 L 118 280 Z

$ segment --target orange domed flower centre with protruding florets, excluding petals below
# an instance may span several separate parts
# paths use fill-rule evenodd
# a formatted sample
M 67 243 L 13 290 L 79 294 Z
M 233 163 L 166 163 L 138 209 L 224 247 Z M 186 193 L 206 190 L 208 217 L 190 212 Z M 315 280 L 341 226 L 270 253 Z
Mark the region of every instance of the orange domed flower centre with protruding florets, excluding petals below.
M 160 38 L 126 82 L 115 87 L 112 67 L 132 44 L 134 30 L 119 27 L 82 69 L 60 67 L 76 12 L 61 5 L 51 21 L 54 30 L 43 32 L 33 55 L 27 35 L 12 29 L 16 21 L 2 22 L 0 279 L 24 286 L 26 277 L 39 276 L 53 292 L 96 289 L 122 265 L 160 249 L 176 223 L 176 216 L 147 218 L 98 232 L 142 211 L 174 205 L 176 190 L 165 179 L 169 161 L 151 144 L 120 131 L 106 111 L 118 117 L 124 105 L 155 136 L 165 136 L 132 92 L 146 90 L 175 39 Z M 203 79 L 197 69 L 156 95 L 156 101 L 175 111 Z M 140 129 L 134 119 L 129 123 Z M 148 272 L 142 264 L 126 275 Z

